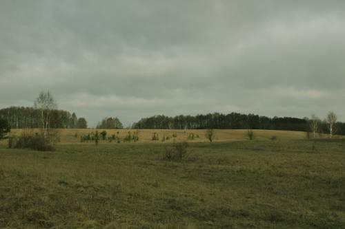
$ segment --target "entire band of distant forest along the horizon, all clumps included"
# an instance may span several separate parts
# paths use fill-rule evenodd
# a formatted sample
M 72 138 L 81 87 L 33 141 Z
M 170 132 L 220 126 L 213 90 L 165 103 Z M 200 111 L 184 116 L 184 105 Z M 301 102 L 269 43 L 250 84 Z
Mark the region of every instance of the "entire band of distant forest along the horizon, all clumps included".
M 0 118 L 6 120 L 11 129 L 40 128 L 39 110 L 33 107 L 8 107 L 0 109 Z M 49 126 L 52 129 L 85 129 L 85 118 L 77 118 L 75 113 L 62 110 L 50 111 Z M 308 118 L 258 116 L 242 113 L 208 113 L 197 116 L 152 116 L 141 118 L 132 129 L 267 129 L 284 131 L 311 131 Z M 106 117 L 97 124 L 99 129 L 123 129 L 118 118 Z M 329 133 L 326 121 L 319 121 L 319 133 Z M 336 134 L 345 135 L 345 123 L 336 123 Z

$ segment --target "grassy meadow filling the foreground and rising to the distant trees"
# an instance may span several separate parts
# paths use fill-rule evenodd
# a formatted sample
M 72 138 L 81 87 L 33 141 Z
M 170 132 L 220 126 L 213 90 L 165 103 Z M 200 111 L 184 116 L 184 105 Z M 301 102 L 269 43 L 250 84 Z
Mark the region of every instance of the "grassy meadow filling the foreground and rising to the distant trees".
M 152 141 L 152 130 L 81 143 L 91 131 L 60 130 L 52 152 L 0 142 L 0 228 L 345 228 L 343 138 L 219 130 L 210 144 L 202 130 L 155 130 L 199 135 L 169 161 L 173 140 Z

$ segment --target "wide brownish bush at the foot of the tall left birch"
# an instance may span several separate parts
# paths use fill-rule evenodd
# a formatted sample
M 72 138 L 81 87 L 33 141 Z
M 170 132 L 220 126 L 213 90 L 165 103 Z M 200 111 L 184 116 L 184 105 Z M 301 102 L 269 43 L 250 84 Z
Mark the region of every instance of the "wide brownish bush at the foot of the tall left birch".
M 11 137 L 8 140 L 8 146 L 10 148 L 17 149 L 33 149 L 36 151 L 54 151 L 55 148 L 50 144 L 47 138 L 44 138 L 43 134 L 35 133 L 28 134 L 23 133 L 21 136 Z

